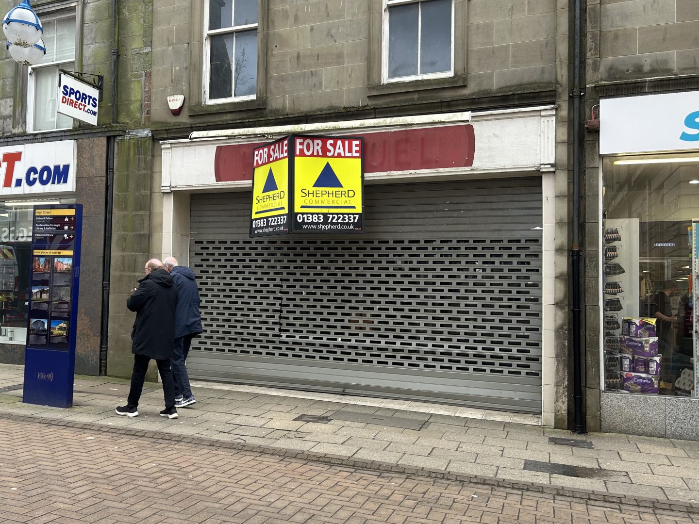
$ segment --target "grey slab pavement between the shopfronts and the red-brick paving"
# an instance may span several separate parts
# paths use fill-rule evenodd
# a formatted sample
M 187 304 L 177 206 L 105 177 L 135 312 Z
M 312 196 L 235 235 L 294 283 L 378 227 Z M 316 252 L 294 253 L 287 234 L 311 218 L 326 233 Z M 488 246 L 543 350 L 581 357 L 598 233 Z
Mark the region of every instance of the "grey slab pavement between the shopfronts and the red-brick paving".
M 665 504 L 658 506 L 663 509 L 679 504 L 699 513 L 699 442 L 572 435 L 518 414 L 199 382 L 192 390 L 196 404 L 180 409 L 179 419 L 158 416 L 162 393 L 157 383 L 148 384 L 140 415 L 127 419 L 113 412 L 124 403 L 124 382 L 76 377 L 75 390 L 86 393 L 76 395 L 80 400 L 74 407 L 56 409 L 23 404 L 22 376 L 21 366 L 0 365 L 0 384 L 5 384 L 0 388 L 0 419 L 505 488 L 526 485 L 528 490 L 591 501 L 642 501 Z

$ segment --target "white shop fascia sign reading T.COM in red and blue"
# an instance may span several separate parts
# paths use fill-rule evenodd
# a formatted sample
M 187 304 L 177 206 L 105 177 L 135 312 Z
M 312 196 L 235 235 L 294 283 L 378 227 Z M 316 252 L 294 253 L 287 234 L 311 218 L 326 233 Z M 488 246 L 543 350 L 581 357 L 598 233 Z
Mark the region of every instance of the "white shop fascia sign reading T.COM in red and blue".
M 75 191 L 75 140 L 0 147 L 0 198 Z

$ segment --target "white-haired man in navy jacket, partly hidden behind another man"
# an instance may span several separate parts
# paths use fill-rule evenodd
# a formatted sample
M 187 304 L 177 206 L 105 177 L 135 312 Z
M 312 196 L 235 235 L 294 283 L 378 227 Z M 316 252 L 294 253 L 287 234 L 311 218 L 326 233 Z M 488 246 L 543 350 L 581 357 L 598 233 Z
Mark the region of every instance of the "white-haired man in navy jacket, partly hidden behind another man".
M 175 407 L 191 406 L 196 402 L 189 386 L 187 374 L 187 354 L 192 339 L 202 332 L 199 314 L 199 288 L 196 275 L 186 265 L 178 265 L 177 259 L 168 256 L 164 260 L 165 270 L 173 277 L 177 290 L 177 311 L 175 312 L 175 347 L 172 358 L 173 378 L 175 379 Z

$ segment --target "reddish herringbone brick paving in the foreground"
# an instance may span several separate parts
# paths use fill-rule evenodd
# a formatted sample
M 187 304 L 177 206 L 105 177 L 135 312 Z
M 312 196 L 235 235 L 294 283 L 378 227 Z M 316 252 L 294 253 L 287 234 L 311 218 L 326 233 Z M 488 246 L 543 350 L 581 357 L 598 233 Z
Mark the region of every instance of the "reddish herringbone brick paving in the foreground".
M 698 515 L 0 420 L 3 523 L 699 523 Z

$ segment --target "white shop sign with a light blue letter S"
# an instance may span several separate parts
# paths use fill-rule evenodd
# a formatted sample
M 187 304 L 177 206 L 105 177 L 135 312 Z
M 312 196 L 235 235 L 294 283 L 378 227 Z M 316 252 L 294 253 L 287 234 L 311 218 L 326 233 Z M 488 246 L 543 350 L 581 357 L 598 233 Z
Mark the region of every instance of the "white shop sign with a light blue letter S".
M 600 154 L 699 149 L 699 92 L 600 100 Z

